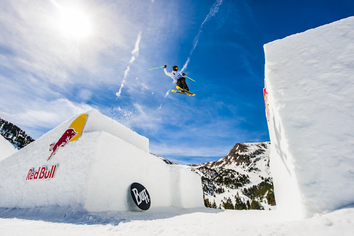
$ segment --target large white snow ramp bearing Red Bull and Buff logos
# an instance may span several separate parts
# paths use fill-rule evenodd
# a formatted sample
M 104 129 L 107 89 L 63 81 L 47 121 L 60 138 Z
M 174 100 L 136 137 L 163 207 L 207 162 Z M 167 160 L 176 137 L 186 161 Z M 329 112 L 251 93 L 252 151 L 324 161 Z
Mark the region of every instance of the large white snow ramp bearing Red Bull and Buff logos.
M 87 114 L 82 135 L 47 162 L 50 145 Z M 89 110 L 72 117 L 0 162 L 0 207 L 71 206 L 89 211 L 138 209 L 130 185 L 146 187 L 151 206 L 202 207 L 201 177 L 148 153 L 148 138 Z M 29 169 L 52 170 L 53 178 L 26 180 Z

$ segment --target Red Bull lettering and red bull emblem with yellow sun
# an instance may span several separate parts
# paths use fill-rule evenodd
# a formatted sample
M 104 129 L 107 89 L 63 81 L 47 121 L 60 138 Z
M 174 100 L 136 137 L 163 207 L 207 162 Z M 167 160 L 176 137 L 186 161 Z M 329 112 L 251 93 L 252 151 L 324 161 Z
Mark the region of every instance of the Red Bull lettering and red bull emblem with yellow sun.
M 68 142 L 75 141 L 81 136 L 86 119 L 86 114 L 82 114 L 81 116 L 76 118 L 73 123 L 71 123 L 69 129 L 67 129 L 65 133 L 61 135 L 59 140 L 50 145 L 50 155 L 47 158 L 47 162 L 58 152 L 59 147 L 64 147 Z M 26 180 L 51 179 L 55 176 L 57 166 L 58 164 L 52 165 L 52 168 L 48 170 L 46 167 L 39 167 L 38 171 L 35 172 L 33 171 L 33 169 L 29 169 Z

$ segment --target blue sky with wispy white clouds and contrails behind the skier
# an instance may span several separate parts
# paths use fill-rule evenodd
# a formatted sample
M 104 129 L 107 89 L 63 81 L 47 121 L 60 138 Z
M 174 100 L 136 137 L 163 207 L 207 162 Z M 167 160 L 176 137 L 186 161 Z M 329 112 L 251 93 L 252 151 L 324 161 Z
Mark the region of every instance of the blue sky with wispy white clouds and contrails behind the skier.
M 217 160 L 269 141 L 263 45 L 353 15 L 352 0 L 1 0 L 0 116 L 37 139 L 95 108 L 151 153 Z M 147 71 L 163 65 L 186 65 L 196 96 Z

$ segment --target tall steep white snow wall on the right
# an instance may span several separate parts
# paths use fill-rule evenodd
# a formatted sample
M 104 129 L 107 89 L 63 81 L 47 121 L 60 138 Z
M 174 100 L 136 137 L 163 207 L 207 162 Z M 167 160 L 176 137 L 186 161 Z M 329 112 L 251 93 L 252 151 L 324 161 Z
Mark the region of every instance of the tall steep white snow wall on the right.
M 294 218 L 354 203 L 354 17 L 267 43 L 270 171 Z

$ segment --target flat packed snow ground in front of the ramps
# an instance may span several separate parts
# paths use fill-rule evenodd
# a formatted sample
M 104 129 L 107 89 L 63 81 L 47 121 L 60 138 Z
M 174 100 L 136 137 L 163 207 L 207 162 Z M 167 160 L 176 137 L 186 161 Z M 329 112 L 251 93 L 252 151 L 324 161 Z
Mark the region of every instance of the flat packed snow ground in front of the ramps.
M 155 208 L 146 212 L 71 212 L 0 208 L 11 236 L 352 236 L 354 208 L 287 221 L 277 210 Z

